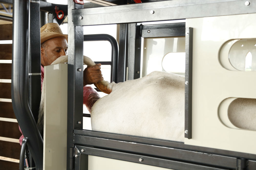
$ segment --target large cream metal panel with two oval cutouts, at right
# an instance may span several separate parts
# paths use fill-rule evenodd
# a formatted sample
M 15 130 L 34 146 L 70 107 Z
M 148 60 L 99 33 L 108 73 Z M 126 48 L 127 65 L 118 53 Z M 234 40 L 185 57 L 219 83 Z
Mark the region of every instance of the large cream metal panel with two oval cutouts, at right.
M 256 38 L 255 17 L 244 14 L 186 20 L 186 27 L 194 29 L 192 139 L 186 138 L 185 144 L 256 154 L 256 131 L 227 127 L 218 115 L 227 98 L 256 98 L 256 72 L 225 69 L 219 59 L 225 42 Z M 228 58 L 228 53 L 224 54 Z

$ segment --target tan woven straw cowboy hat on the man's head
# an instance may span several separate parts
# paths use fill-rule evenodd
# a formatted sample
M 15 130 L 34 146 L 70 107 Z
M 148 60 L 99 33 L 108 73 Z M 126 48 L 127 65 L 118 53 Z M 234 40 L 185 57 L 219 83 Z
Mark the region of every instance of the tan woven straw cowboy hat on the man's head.
M 40 28 L 40 37 L 41 37 L 41 44 L 51 38 L 56 37 L 66 37 L 68 41 L 68 35 L 63 34 L 59 24 L 57 23 L 47 23 Z

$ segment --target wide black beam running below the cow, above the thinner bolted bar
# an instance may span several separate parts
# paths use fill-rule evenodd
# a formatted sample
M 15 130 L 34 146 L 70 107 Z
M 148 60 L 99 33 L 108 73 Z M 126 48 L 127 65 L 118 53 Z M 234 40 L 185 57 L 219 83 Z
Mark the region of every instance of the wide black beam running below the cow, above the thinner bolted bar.
M 126 151 L 137 154 L 146 154 L 151 156 L 175 159 L 199 164 L 207 164 L 211 166 L 218 165 L 219 167 L 236 169 L 237 158 L 222 156 L 216 154 L 208 154 L 195 152 L 190 150 L 168 148 L 162 146 L 153 146 L 142 143 L 133 143 L 112 139 L 102 139 L 88 137 L 82 135 L 74 135 L 74 143 L 78 145 L 93 146 L 99 148 L 107 148 L 112 150 Z

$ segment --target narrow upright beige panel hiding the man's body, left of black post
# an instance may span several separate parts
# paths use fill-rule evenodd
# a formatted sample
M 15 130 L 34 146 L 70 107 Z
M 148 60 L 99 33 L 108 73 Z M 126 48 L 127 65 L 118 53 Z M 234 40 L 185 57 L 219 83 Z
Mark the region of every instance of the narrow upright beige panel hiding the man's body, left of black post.
M 67 166 L 68 64 L 45 66 L 43 169 Z

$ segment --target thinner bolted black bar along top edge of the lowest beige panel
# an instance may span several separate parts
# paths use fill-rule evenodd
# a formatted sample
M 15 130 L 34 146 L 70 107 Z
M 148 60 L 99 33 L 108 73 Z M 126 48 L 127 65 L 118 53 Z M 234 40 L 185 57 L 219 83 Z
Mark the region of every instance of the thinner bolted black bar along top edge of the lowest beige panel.
M 87 154 L 93 156 L 101 156 L 105 158 L 117 159 L 122 161 L 135 162 L 145 165 L 158 166 L 169 169 L 177 169 L 177 170 L 224 170 L 227 168 L 219 168 L 213 166 L 205 166 L 200 164 L 193 164 L 188 162 L 182 162 L 177 160 L 163 159 L 163 158 L 155 158 L 148 155 L 142 154 L 134 154 L 134 153 L 125 153 L 120 151 L 106 150 L 101 148 L 91 148 L 86 146 L 76 145 L 76 148 L 79 149 L 80 154 Z M 81 150 L 84 152 L 81 152 Z M 79 156 L 80 157 L 80 156 Z M 85 161 L 80 158 L 80 162 Z

